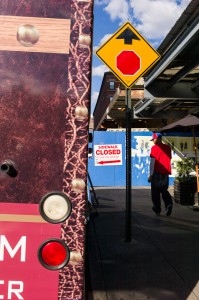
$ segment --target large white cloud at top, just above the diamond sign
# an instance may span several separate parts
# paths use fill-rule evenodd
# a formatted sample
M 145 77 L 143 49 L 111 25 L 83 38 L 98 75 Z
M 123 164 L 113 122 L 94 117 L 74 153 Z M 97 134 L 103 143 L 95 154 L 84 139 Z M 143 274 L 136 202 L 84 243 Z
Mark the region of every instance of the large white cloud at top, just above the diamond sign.
M 145 38 L 163 39 L 191 0 L 97 0 L 111 21 L 130 21 Z

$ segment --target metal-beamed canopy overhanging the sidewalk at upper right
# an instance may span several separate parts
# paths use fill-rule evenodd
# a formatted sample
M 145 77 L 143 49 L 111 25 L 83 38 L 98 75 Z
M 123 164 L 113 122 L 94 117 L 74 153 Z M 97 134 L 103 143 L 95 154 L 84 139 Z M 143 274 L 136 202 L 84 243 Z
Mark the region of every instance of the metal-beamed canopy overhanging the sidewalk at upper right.
M 199 115 L 199 0 L 192 0 L 157 51 L 161 60 L 145 78 L 139 118 Z

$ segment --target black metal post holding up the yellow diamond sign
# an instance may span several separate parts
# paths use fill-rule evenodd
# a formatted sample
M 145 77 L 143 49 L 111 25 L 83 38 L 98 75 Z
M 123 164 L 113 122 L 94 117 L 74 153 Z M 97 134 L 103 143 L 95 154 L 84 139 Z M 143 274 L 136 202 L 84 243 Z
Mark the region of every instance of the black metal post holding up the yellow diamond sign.
M 126 89 L 126 236 L 131 241 L 131 89 Z

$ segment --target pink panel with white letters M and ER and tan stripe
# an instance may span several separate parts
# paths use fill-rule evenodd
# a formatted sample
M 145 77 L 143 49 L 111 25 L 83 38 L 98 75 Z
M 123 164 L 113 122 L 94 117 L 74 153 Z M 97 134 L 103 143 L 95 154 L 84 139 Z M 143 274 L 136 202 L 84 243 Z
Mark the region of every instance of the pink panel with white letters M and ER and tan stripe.
M 45 240 L 60 238 L 60 225 L 45 222 L 37 204 L 0 204 L 0 299 L 55 300 L 59 271 L 37 257 Z

